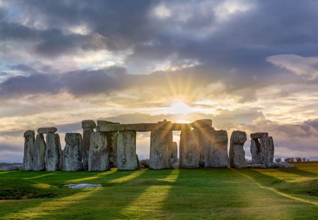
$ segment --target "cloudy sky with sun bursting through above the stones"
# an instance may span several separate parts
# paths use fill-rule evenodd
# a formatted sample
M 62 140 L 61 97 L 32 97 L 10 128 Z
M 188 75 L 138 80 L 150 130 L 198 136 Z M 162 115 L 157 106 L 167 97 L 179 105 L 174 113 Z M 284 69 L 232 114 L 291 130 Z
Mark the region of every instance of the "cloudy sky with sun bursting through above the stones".
M 212 119 L 247 159 L 268 132 L 274 157 L 317 160 L 317 22 L 315 0 L 0 0 L 0 162 L 22 162 L 25 130 L 63 149 L 87 119 Z

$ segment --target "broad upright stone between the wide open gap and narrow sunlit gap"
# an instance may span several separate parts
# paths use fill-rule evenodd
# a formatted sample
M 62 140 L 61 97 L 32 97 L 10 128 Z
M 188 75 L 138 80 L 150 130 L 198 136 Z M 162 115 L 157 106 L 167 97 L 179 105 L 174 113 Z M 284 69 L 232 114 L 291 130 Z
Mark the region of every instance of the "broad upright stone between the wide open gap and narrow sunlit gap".
M 150 169 L 170 168 L 170 153 L 172 149 L 172 131 L 152 131 L 150 133 Z

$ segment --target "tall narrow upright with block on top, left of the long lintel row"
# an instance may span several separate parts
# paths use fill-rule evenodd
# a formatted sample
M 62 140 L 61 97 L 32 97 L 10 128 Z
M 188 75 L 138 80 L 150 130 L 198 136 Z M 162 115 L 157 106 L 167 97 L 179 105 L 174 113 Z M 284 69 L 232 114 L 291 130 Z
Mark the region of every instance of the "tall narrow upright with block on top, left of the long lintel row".
M 85 170 L 88 170 L 88 154 L 89 154 L 89 146 L 91 134 L 94 132 L 93 128 L 96 127 L 96 123 L 93 120 L 83 120 L 82 128 L 83 128 L 83 166 Z

